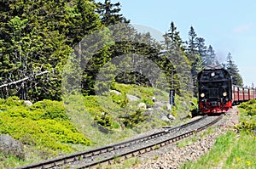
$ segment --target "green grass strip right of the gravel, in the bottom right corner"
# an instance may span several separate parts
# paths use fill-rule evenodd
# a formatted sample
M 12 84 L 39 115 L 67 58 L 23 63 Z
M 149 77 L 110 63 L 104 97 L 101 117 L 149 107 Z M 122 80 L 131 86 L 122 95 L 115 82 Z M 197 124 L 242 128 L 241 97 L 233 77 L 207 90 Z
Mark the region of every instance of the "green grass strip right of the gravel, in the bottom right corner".
M 236 126 L 239 132 L 227 132 L 220 136 L 214 148 L 198 161 L 189 161 L 181 168 L 255 169 L 256 168 L 256 101 L 250 100 L 239 106 L 241 123 Z

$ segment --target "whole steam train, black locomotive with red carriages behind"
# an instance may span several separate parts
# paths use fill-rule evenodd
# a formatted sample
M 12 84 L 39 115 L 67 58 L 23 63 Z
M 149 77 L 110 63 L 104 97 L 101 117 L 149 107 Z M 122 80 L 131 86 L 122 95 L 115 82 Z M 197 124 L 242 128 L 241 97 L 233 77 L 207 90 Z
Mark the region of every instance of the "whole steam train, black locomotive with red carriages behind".
M 256 99 L 256 89 L 232 85 L 232 77 L 227 70 L 218 66 L 207 66 L 197 76 L 198 110 L 192 116 L 201 114 L 221 114 L 249 99 Z

